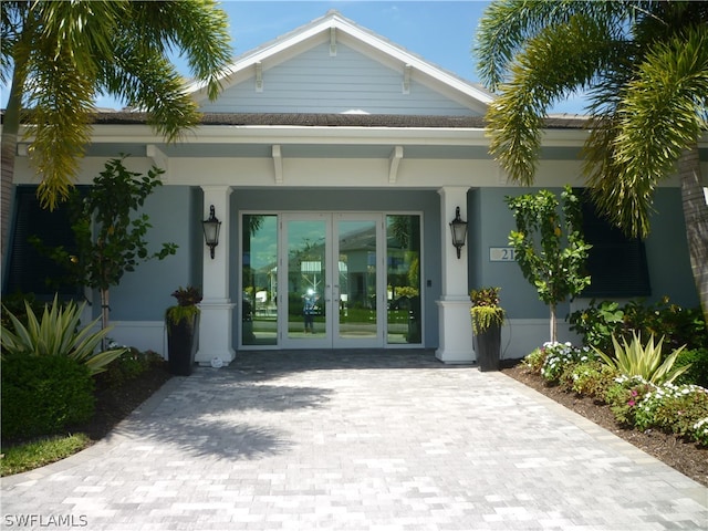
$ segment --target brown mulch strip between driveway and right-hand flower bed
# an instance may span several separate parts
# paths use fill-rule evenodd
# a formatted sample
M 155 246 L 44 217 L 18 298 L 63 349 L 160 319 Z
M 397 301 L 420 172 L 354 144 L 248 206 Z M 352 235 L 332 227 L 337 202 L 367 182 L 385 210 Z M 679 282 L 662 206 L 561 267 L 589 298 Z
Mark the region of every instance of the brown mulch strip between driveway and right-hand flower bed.
M 650 456 L 675 468 L 693 480 L 708 487 L 708 449 L 695 442 L 657 430 L 638 431 L 620 426 L 610 407 L 593 398 L 566 393 L 555 386 L 546 386 L 541 377 L 529 373 L 522 365 L 502 368 L 502 372 L 559 404 L 584 416 L 633 444 Z

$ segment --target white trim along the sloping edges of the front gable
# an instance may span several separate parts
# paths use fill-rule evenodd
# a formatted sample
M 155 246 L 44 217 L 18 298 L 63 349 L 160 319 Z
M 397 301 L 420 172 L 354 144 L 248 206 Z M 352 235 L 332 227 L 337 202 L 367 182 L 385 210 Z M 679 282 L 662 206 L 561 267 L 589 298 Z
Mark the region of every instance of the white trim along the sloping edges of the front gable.
M 388 39 L 346 19 L 336 10 L 331 10 L 324 17 L 236 58 L 230 65 L 230 72 L 221 79 L 222 87 L 227 90 L 256 77 L 258 71 L 281 64 L 325 42 L 330 43 L 332 54 L 336 53 L 337 43 L 342 42 L 368 58 L 400 71 L 402 76 L 412 76 L 416 82 L 427 85 L 479 114 L 485 114 L 487 106 L 494 98 L 494 95 L 481 85 L 468 82 L 425 61 Z M 207 102 L 204 83 L 188 85 L 187 92 L 192 94 L 197 103 Z

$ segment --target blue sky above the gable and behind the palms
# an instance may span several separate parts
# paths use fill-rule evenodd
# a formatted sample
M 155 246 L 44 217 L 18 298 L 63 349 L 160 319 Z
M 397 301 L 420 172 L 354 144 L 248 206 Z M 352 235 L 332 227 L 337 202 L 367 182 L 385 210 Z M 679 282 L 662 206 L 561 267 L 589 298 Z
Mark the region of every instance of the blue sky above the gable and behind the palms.
M 459 77 L 479 82 L 473 38 L 488 1 L 240 1 L 225 0 L 229 15 L 233 56 L 283 35 L 335 9 L 347 19 L 448 70 Z M 180 62 L 177 61 L 179 65 Z M 184 63 L 181 63 L 184 64 Z M 181 70 L 189 76 L 188 70 Z M 2 87 L 4 93 L 4 87 Z M 3 95 L 2 103 L 7 102 Z M 100 97 L 100 107 L 121 108 L 115 100 Z M 573 98 L 551 112 L 579 113 L 582 101 Z

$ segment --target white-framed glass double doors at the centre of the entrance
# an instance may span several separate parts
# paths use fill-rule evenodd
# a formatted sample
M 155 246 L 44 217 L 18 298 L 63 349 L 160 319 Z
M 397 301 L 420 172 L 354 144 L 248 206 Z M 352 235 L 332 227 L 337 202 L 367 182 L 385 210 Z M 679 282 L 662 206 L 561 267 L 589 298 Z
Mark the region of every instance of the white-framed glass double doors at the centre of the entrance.
M 379 214 L 282 216 L 278 321 L 283 347 L 384 345 L 384 235 Z

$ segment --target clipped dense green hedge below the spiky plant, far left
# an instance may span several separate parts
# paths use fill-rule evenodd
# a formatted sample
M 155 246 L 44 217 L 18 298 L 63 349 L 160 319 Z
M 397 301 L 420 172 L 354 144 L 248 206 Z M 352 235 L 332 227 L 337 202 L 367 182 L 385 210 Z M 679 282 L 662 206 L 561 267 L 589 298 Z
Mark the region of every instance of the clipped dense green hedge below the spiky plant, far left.
M 55 434 L 93 415 L 94 382 L 76 360 L 7 355 L 1 378 L 3 439 Z

